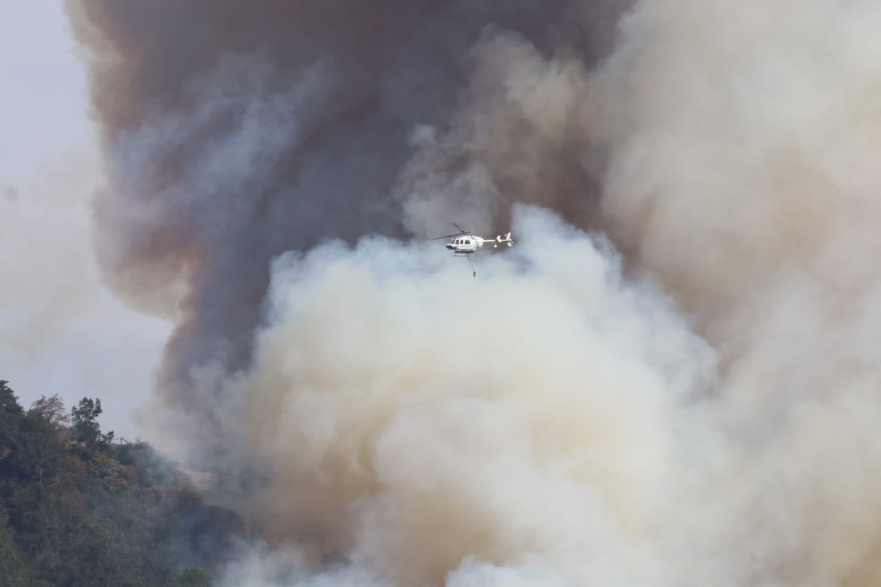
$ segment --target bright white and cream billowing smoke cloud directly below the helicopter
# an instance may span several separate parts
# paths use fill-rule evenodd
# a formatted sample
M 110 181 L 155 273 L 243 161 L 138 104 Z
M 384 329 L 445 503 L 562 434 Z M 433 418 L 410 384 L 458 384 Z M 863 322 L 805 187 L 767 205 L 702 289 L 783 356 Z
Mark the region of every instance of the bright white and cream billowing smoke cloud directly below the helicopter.
M 514 232 L 478 279 L 384 239 L 278 259 L 255 368 L 225 394 L 270 473 L 269 536 L 392 584 L 694 576 L 671 556 L 691 534 L 659 532 L 724 454 L 694 399 L 714 353 L 607 242 L 533 207 Z

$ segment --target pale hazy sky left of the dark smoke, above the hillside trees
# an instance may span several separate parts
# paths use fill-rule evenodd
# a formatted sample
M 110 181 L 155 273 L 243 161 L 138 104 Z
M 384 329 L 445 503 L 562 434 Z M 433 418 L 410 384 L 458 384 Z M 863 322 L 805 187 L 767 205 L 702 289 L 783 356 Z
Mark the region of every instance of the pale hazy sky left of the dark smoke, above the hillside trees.
M 168 325 L 100 284 L 100 160 L 77 50 L 60 2 L 0 7 L 0 379 L 25 406 L 100 398 L 102 427 L 131 439 Z

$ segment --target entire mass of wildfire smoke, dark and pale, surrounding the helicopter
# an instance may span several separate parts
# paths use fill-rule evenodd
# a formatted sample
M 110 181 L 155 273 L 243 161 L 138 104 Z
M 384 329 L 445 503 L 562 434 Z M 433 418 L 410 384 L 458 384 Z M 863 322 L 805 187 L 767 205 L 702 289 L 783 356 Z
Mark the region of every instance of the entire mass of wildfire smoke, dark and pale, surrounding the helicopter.
M 70 4 L 230 584 L 881 580 L 881 8 L 627 8 Z

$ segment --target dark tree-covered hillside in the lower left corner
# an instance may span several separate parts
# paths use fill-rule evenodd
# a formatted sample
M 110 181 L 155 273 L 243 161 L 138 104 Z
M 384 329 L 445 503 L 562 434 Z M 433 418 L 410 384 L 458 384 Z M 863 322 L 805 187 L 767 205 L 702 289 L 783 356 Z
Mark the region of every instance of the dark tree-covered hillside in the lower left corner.
M 25 410 L 0 381 L 0 583 L 208 585 L 242 532 L 144 442 L 113 442 L 100 400 Z

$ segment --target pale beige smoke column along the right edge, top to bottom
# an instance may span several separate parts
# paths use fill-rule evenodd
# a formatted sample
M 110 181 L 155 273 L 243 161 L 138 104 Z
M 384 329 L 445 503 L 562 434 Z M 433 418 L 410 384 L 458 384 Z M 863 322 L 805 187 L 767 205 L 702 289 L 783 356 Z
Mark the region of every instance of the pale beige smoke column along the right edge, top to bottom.
M 879 24 L 873 3 L 646 1 L 591 82 L 604 224 L 720 353 L 709 421 L 784 584 L 881 572 Z

